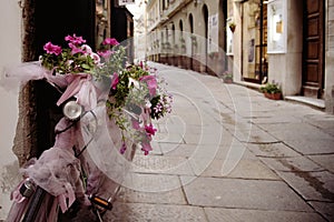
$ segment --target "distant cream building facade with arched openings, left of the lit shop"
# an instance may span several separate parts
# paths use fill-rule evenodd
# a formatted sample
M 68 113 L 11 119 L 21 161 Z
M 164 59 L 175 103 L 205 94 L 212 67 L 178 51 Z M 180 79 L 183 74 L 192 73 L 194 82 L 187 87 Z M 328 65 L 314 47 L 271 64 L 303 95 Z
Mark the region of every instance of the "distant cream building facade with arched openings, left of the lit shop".
M 222 75 L 228 65 L 226 10 L 223 0 L 148 1 L 147 58 Z

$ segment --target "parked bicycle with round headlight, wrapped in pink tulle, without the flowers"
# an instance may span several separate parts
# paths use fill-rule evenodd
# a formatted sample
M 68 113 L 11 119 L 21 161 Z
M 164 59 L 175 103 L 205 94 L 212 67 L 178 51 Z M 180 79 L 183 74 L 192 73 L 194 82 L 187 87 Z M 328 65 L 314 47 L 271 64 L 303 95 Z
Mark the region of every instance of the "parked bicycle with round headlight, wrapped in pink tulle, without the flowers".
M 104 103 L 105 101 L 100 101 L 100 107 L 97 107 L 95 110 L 84 111 L 82 107 L 75 100 L 65 102 L 62 109 L 65 117 L 56 125 L 55 145 L 45 151 L 38 160 L 30 160 L 24 170 L 22 170 L 23 173 L 28 172 L 29 175 L 22 180 L 13 194 L 16 200 L 21 199 L 11 209 L 11 211 L 16 211 L 17 218 L 8 218 L 8 221 L 55 221 L 59 216 L 59 206 L 62 213 L 68 210 L 71 211 L 70 213 L 67 212 L 67 215 L 76 212 L 78 206 L 73 204 L 75 200 L 79 200 L 78 202 L 81 202 L 84 205 L 90 205 L 99 221 L 102 221 L 101 215 L 107 210 L 112 209 L 111 202 L 119 190 L 119 184 L 116 184 L 114 189 L 109 188 L 109 190 L 114 190 L 114 193 L 107 198 L 101 198 L 101 194 L 106 195 L 107 193 L 106 190 L 102 192 L 99 192 L 99 190 L 108 178 L 98 169 L 94 161 L 87 160 L 89 155 L 84 155 L 90 143 L 101 139 L 101 134 L 97 138 L 96 133 L 106 130 L 106 122 L 98 123 L 98 118 L 102 120 L 102 117 L 105 117 Z M 101 127 L 104 128 L 98 129 Z M 87 139 L 86 143 L 84 137 Z M 102 143 L 110 142 L 106 137 L 104 140 L 106 141 Z M 57 163 L 61 162 L 59 160 L 65 160 L 65 162 L 58 167 L 59 169 L 56 169 L 51 159 L 57 159 Z M 51 168 L 52 171 L 50 171 Z M 61 170 L 66 173 L 61 174 Z M 46 178 L 48 179 L 47 181 Z M 69 186 L 70 184 L 76 186 L 76 191 L 67 188 L 66 192 L 69 192 L 69 194 L 63 196 L 65 190 L 62 192 L 57 191 L 59 188 L 48 185 L 51 182 L 57 184 L 65 182 L 62 185 Z M 58 199 L 60 196 L 61 200 L 57 200 L 57 196 Z M 66 201 L 68 201 L 67 204 L 65 203 Z M 69 206 L 72 204 L 73 208 L 70 209 Z M 9 213 L 9 215 L 11 214 Z

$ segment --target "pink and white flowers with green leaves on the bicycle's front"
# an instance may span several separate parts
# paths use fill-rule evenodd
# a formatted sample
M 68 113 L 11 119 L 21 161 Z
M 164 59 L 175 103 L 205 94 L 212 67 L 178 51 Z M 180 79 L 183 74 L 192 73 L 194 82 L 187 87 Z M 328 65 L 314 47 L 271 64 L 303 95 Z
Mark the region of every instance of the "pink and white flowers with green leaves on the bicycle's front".
M 92 52 L 85 44 L 86 40 L 76 34 L 65 40 L 69 48 L 62 49 L 48 42 L 43 47 L 46 53 L 40 57 L 40 63 L 49 74 L 60 75 L 57 80 L 49 80 L 58 87 L 67 87 L 57 104 L 75 95 L 84 107 L 92 109 L 97 101 L 88 94 L 96 94 L 92 85 L 102 81 L 105 89 L 110 90 L 106 101 L 109 118 L 116 121 L 122 132 L 127 131 L 129 137 L 135 138 L 144 153 L 148 154 L 153 150 L 150 141 L 157 131 L 151 120 L 158 120 L 171 111 L 173 97 L 167 92 L 164 79 L 143 61 L 127 64 L 126 50 L 116 39 L 104 40 L 97 52 Z M 66 82 L 59 79 L 66 79 Z M 91 98 L 90 101 L 87 101 L 87 97 Z M 122 137 L 126 140 L 125 133 Z M 125 149 L 124 143 L 120 152 Z

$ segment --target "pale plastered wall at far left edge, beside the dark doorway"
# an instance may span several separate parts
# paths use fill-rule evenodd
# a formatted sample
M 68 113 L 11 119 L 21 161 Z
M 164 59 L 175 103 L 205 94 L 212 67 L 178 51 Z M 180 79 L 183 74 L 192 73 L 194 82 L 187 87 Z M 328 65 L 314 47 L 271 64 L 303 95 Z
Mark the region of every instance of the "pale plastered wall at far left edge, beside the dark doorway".
M 0 1 L 0 71 L 21 61 L 21 9 L 17 0 Z M 18 89 L 0 87 L 0 220 L 6 219 L 11 202 L 9 194 L 17 184 L 17 158 L 11 151 L 18 118 Z

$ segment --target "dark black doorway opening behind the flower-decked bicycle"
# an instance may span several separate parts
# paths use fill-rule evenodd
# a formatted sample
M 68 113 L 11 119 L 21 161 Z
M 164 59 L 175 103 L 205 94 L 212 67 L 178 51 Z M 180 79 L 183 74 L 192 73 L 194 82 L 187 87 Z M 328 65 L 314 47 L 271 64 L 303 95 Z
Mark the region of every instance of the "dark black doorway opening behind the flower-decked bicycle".
M 61 13 L 50 13 L 50 9 Z M 37 61 L 45 53 L 43 46 L 49 41 L 67 47 L 65 37 L 68 34 L 82 36 L 95 48 L 95 2 L 58 0 L 50 4 L 43 0 L 24 1 L 23 26 L 24 62 Z M 26 129 L 20 129 L 21 132 L 17 134 L 29 132 L 29 144 L 24 144 L 23 151 L 27 160 L 38 158 L 42 151 L 53 145 L 55 125 L 62 117 L 61 109 L 56 105 L 59 97 L 59 92 L 43 80 L 30 81 L 20 92 L 21 100 L 22 100 L 20 107 L 22 114 L 18 125 L 24 123 Z M 20 163 L 26 159 L 19 157 Z

